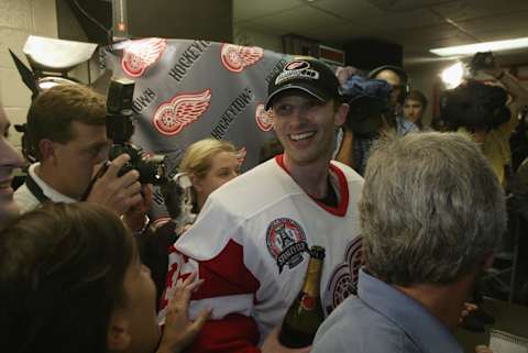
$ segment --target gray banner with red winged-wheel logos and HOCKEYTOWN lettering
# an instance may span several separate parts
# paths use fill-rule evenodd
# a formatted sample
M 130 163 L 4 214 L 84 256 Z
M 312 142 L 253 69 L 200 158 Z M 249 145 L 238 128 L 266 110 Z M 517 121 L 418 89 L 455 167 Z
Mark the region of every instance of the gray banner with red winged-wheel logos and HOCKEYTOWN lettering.
M 256 46 L 165 38 L 99 51 L 102 70 L 135 82 L 132 142 L 167 155 L 173 174 L 189 144 L 211 136 L 241 150 L 242 170 L 254 167 L 263 142 L 273 137 L 264 110 L 267 84 L 289 58 Z M 165 218 L 157 190 L 154 203 L 154 218 Z

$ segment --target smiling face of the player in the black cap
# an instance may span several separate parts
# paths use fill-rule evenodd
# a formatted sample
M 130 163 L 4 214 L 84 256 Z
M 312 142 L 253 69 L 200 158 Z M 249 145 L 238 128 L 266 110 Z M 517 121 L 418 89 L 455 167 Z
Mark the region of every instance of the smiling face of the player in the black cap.
M 311 164 L 328 166 L 336 129 L 343 124 L 348 106 L 336 107 L 312 96 L 292 90 L 272 104 L 273 126 L 285 150 L 288 168 Z

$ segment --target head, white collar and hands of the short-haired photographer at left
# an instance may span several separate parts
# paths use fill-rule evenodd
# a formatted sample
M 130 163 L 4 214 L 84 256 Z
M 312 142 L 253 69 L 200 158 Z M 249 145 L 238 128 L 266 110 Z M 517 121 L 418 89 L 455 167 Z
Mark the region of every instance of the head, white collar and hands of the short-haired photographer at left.
M 42 92 L 28 113 L 29 153 L 38 162 L 14 194 L 22 212 L 45 201 L 80 201 L 98 167 L 108 157 L 105 98 L 81 85 L 61 85 Z M 92 186 L 86 200 L 122 216 L 131 230 L 145 224 L 152 191 L 139 173 L 118 172 L 130 159 L 122 154 Z

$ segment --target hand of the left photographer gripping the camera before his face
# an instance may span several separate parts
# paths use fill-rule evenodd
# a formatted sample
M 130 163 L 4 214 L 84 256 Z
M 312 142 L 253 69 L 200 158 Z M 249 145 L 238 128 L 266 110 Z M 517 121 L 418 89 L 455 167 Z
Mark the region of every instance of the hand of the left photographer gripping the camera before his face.
M 122 154 L 113 159 L 107 172 L 96 180 L 86 199 L 88 202 L 96 202 L 116 211 L 118 216 L 124 214 L 132 206 L 142 201 L 140 173 L 130 170 L 119 177 L 121 167 L 130 161 L 128 154 Z

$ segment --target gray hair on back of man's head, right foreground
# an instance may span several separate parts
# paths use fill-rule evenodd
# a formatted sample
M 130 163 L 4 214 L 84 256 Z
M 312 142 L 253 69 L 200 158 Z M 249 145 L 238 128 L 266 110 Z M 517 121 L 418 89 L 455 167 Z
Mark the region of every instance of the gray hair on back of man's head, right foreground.
M 394 285 L 447 284 L 498 245 L 504 191 L 468 135 L 387 134 L 371 151 L 360 200 L 371 274 Z

